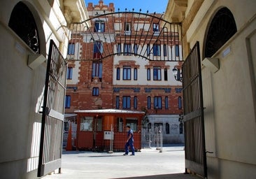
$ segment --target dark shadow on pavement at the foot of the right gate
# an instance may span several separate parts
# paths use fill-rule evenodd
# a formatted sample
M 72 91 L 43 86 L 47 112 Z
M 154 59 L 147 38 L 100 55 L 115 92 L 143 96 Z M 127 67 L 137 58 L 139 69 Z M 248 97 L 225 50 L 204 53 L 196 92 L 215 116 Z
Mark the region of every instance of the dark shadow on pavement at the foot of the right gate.
M 138 177 L 113 178 L 113 179 L 201 179 L 201 178 L 199 176 L 194 176 L 192 174 L 173 173 L 173 174 L 164 174 L 164 175 L 157 175 L 157 176 L 138 176 Z

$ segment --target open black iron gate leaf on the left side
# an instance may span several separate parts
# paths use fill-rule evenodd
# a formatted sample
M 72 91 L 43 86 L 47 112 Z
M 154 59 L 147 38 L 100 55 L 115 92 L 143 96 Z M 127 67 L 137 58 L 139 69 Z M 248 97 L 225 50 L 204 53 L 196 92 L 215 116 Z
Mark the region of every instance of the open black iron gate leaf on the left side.
M 38 177 L 61 167 L 66 61 L 50 41 L 45 79 Z

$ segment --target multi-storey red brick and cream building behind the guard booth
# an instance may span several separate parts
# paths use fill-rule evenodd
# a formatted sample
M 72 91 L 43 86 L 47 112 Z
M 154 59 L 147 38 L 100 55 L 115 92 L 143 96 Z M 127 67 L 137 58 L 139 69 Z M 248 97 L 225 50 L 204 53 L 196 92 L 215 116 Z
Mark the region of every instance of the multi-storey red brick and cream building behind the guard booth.
M 115 13 L 113 3 L 88 3 L 87 12 L 90 21 L 73 26 L 69 43 L 65 112 L 143 110 L 149 121 L 134 124 L 145 128 L 142 147 L 155 145 L 159 126 L 164 143 L 183 143 L 182 83 L 173 77 L 183 61 L 178 31 L 165 32 L 162 14 Z

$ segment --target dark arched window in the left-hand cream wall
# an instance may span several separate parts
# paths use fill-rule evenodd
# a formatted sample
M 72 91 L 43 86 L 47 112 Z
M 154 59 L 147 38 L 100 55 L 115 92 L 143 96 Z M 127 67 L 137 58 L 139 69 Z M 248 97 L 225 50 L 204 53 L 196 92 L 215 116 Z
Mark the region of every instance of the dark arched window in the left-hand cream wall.
M 13 11 L 10 15 L 10 20 L 8 23 L 10 29 L 13 29 L 17 36 L 20 36 L 24 43 L 29 45 L 29 48 L 36 52 L 40 53 L 39 47 L 39 37 L 38 29 L 36 27 L 36 22 L 34 16 L 27 6 L 19 2 L 13 8 Z

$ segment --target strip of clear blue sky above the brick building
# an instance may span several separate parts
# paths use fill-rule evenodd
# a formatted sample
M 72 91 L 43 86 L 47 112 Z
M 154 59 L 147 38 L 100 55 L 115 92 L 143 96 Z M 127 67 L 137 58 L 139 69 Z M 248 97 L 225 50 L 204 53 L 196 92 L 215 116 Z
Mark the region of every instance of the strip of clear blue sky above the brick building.
M 139 12 L 141 9 L 141 13 L 164 13 L 166 10 L 166 6 L 169 0 L 103 0 L 104 4 L 108 5 L 109 3 L 114 3 L 115 11 L 132 11 L 134 8 L 134 12 Z M 99 4 L 99 0 L 85 0 L 86 6 L 88 3 Z

